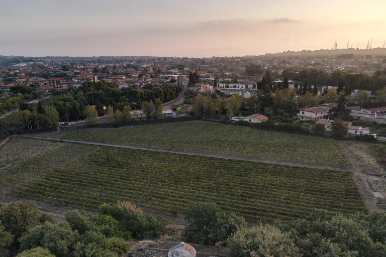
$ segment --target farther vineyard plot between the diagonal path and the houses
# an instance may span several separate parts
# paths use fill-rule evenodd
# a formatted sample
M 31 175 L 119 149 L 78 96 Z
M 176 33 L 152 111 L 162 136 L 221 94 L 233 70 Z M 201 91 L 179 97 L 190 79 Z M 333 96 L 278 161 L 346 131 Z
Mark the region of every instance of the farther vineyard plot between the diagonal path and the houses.
M 347 168 L 332 139 L 260 131 L 208 121 L 71 131 L 66 132 L 63 139 L 271 163 Z

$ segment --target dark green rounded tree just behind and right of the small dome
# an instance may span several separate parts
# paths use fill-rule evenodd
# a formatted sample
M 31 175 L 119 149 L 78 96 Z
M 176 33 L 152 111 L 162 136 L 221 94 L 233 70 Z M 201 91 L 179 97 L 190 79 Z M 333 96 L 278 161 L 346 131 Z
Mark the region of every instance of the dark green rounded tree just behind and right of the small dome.
M 189 222 L 184 231 L 187 241 L 201 244 L 225 242 L 239 228 L 246 226 L 244 218 L 234 213 L 226 214 L 211 202 L 193 203 L 187 209 L 185 219 Z

